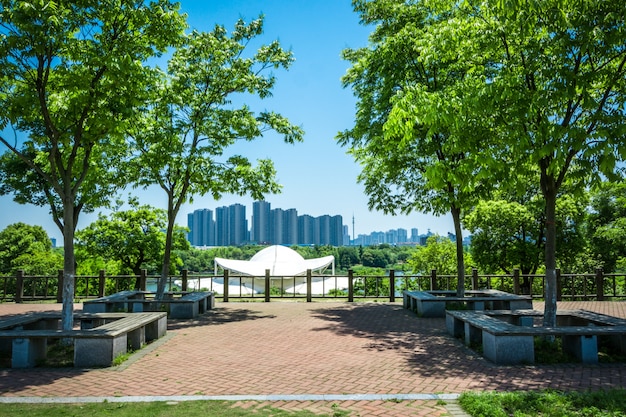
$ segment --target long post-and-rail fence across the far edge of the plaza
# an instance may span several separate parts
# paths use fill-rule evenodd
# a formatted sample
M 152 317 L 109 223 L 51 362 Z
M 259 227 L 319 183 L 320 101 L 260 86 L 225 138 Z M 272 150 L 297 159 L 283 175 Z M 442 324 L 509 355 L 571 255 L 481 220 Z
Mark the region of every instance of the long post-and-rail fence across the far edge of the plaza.
M 56 300 L 61 302 L 63 271 L 56 276 L 26 276 L 19 271 L 14 276 L 0 276 L 0 301 Z M 118 291 L 140 288 L 155 291 L 158 276 L 148 276 L 145 271 L 139 276 L 107 276 L 100 271 L 94 276 L 77 276 L 75 296 L 77 299 L 102 297 Z M 601 269 L 594 274 L 561 274 L 557 270 L 559 300 L 607 300 L 626 298 L 626 274 L 604 274 Z M 225 285 L 227 283 L 227 285 Z M 208 290 L 228 302 L 231 299 L 272 298 L 306 299 L 385 299 L 391 302 L 402 296 L 405 290 L 456 290 L 456 275 L 405 275 L 390 271 L 387 275 L 358 275 L 349 271 L 347 275 L 270 276 L 269 270 L 263 277 L 231 275 L 189 274 L 169 277 L 168 291 Z M 542 298 L 544 276 L 521 275 L 515 270 L 510 275 L 479 275 L 477 270 L 467 277 L 466 289 L 498 289 L 515 294 L 527 294 Z

